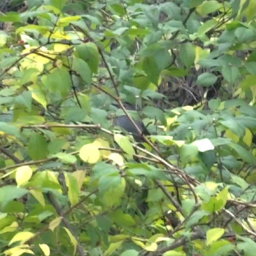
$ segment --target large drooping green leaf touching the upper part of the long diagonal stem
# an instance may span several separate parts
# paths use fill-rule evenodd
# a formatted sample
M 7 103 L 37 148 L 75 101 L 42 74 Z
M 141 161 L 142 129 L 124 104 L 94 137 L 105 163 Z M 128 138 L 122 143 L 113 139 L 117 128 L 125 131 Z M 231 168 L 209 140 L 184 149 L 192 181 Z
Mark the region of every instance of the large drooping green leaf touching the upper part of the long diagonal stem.
M 91 69 L 92 73 L 98 73 L 99 64 L 99 53 L 98 48 L 93 42 L 85 43 L 84 45 L 79 45 L 75 47 L 76 56 L 84 60 Z

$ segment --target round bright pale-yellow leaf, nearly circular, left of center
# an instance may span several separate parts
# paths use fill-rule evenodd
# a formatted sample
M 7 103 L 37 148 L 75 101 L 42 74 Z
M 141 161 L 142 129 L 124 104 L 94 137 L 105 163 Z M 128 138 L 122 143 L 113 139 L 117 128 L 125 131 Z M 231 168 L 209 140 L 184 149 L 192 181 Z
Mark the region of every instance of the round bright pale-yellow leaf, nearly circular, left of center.
M 84 145 L 79 151 L 80 158 L 89 164 L 95 164 L 100 159 L 100 151 L 96 144 Z

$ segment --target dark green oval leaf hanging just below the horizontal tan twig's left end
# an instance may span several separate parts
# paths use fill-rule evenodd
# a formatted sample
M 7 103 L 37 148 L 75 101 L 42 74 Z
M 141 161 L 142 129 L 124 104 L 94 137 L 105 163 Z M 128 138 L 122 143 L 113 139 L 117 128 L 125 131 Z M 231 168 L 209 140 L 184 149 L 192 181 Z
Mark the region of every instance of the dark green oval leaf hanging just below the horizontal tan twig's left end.
M 28 154 L 32 160 L 41 160 L 47 157 L 47 142 L 41 134 L 34 133 L 28 142 Z

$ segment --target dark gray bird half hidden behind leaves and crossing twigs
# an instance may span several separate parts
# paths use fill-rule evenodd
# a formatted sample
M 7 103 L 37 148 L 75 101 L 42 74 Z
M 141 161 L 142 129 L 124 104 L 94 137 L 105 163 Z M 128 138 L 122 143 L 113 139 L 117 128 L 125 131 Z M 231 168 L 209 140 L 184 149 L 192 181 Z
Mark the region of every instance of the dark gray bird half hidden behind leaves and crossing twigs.
M 113 103 L 112 105 L 116 106 L 117 108 L 120 108 L 118 104 Z M 136 107 L 134 105 L 131 105 L 130 103 L 123 103 L 123 106 L 127 110 L 137 110 Z M 133 119 L 133 121 L 134 123 L 136 123 L 136 125 L 139 127 L 139 129 L 144 135 L 150 135 L 150 133 L 148 132 L 147 128 L 144 126 L 144 123 L 141 120 Z M 114 121 L 114 124 L 115 126 L 123 128 L 123 130 L 126 130 L 128 133 L 132 133 L 134 140 L 136 140 L 137 142 L 141 141 L 140 134 L 138 133 L 136 127 L 133 125 L 133 123 L 126 115 L 117 116 Z

